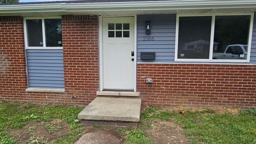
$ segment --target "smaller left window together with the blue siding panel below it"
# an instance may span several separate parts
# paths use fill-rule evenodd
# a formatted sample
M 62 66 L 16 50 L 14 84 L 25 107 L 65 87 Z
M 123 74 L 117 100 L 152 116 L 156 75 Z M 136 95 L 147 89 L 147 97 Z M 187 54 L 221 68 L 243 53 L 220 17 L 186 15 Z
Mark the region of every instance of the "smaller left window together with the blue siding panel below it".
M 25 18 L 28 87 L 65 89 L 61 18 Z

